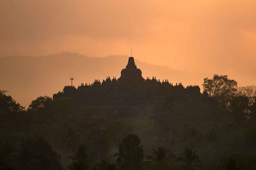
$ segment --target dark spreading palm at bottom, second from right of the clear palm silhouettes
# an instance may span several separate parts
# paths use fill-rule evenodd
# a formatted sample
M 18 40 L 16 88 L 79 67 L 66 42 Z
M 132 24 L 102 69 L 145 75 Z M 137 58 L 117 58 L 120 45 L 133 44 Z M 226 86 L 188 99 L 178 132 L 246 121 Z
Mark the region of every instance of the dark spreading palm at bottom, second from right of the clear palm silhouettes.
M 147 159 L 150 159 L 150 162 L 153 163 L 153 169 L 167 169 L 167 159 L 171 156 L 171 154 L 167 153 L 169 150 L 164 147 L 156 147 L 157 149 L 152 149 L 153 156 L 148 155 Z

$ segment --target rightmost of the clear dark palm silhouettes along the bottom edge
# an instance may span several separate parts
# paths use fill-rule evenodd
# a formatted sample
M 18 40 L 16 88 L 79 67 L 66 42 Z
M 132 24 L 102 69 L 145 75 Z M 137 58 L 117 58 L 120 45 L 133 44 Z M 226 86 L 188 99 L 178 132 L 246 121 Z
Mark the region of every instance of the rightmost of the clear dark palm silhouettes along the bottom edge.
M 183 170 L 196 170 L 201 167 L 201 161 L 199 160 L 199 155 L 196 151 L 185 148 L 183 156 L 177 158 L 177 162 L 180 162 L 180 168 Z

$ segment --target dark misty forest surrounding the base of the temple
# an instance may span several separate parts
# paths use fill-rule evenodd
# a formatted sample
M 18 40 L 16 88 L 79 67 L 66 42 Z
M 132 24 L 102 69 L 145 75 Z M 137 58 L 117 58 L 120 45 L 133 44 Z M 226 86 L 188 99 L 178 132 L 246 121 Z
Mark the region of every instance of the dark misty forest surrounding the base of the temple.
M 256 87 L 217 74 L 202 85 L 133 117 L 69 97 L 25 110 L 1 90 L 0 169 L 256 169 Z

